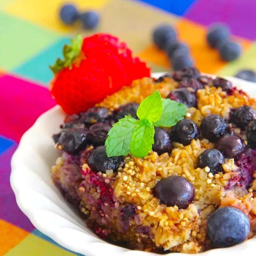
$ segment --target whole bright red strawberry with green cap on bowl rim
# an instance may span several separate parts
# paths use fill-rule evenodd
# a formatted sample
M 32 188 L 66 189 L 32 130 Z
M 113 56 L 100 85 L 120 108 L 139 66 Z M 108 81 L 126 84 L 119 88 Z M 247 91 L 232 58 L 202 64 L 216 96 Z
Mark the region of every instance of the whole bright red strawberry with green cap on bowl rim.
M 78 35 L 64 46 L 63 55 L 50 67 L 51 93 L 68 114 L 84 112 L 133 80 L 150 76 L 146 64 L 109 34 Z

